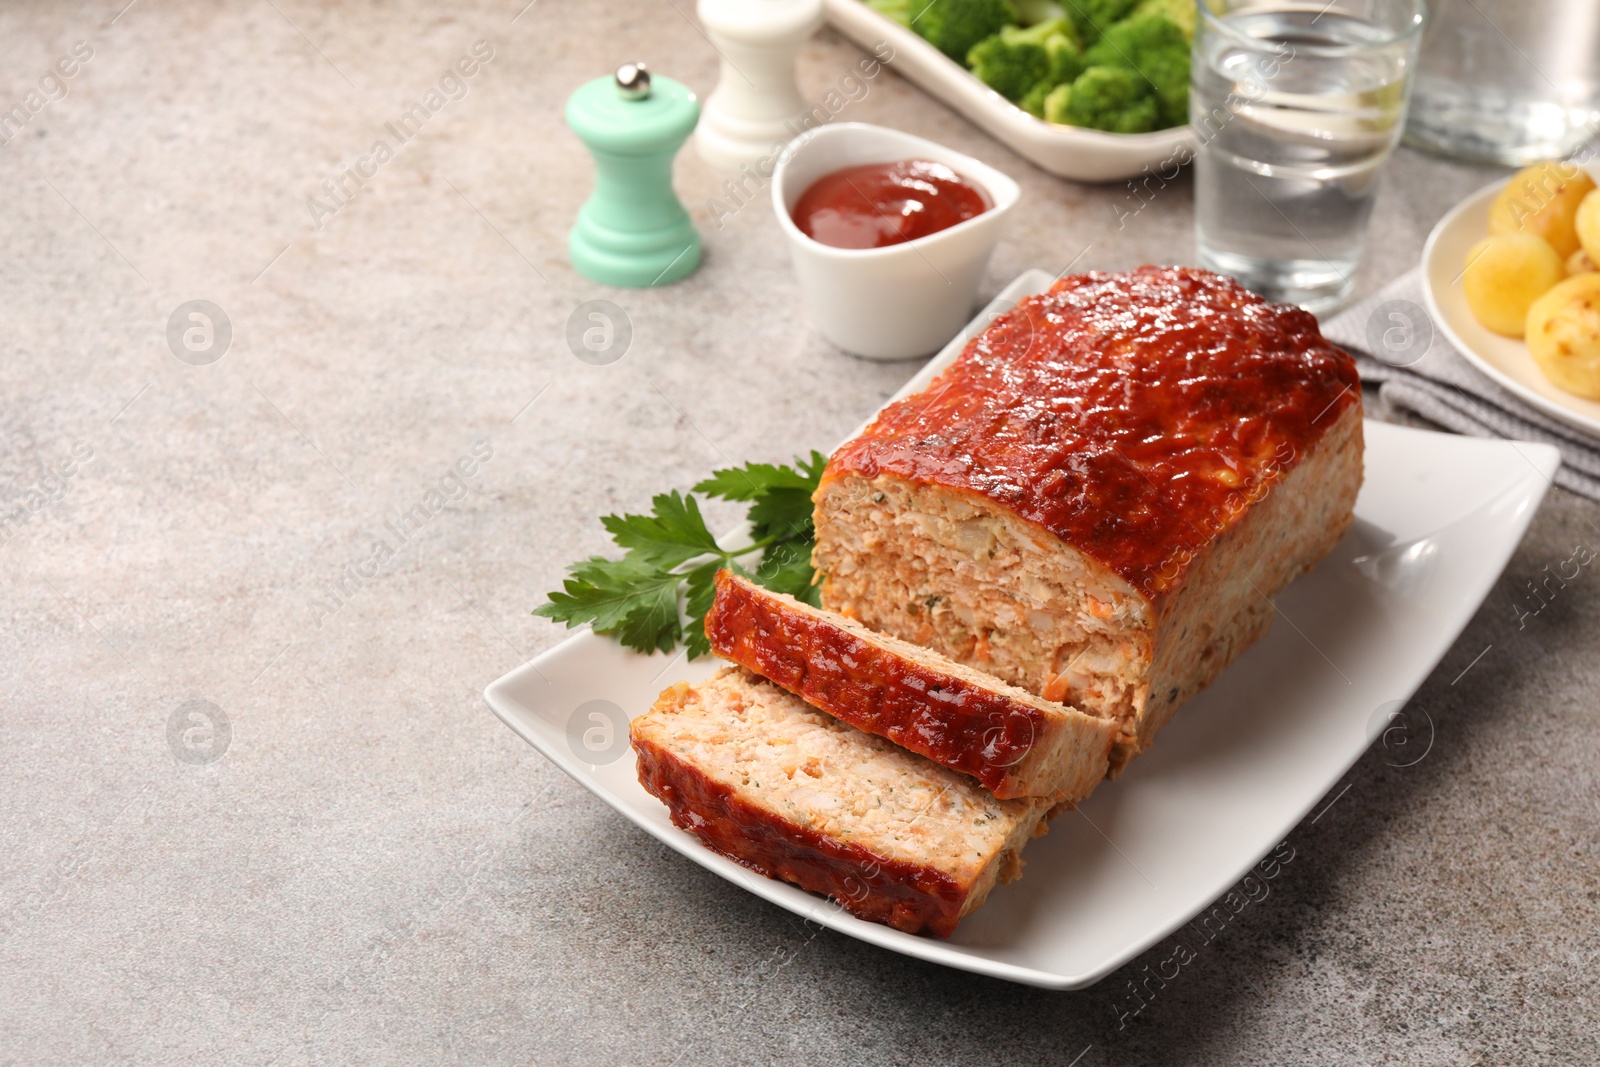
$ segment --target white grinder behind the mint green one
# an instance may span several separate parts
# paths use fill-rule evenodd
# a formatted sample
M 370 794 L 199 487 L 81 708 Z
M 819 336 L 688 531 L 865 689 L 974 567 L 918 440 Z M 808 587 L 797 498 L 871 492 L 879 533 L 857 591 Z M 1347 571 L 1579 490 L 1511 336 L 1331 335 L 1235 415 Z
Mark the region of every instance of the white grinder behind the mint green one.
M 712 166 L 776 160 L 803 130 L 795 56 L 822 26 L 822 0 L 699 0 L 696 13 L 722 54 L 694 147 Z

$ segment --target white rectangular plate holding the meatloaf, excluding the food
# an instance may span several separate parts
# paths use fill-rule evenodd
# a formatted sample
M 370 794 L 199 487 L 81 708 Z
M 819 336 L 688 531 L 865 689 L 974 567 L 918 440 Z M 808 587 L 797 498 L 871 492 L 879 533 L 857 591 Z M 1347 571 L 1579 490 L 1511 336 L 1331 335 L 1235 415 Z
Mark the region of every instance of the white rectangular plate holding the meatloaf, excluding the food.
M 1051 280 L 1030 270 L 990 309 Z M 979 315 L 906 390 L 954 360 L 989 317 Z M 664 686 L 710 673 L 712 661 L 640 656 L 581 632 L 490 685 L 485 697 L 597 797 L 757 896 L 894 952 L 1075 989 L 1226 893 L 1339 781 L 1477 611 L 1557 462 L 1546 445 L 1366 422 L 1366 482 L 1349 536 L 1285 590 L 1267 637 L 1120 779 L 1029 845 L 1026 875 L 997 888 L 949 941 L 853 918 L 672 825 L 666 806 L 638 785 L 626 731 L 608 725 L 603 702 L 627 709 L 624 720 L 640 715 Z

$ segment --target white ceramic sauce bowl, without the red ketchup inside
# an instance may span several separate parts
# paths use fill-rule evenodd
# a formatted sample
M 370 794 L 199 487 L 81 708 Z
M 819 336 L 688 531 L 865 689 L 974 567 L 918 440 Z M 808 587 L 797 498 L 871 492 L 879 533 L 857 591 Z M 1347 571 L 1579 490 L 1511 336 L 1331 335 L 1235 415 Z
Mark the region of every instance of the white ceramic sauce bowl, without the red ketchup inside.
M 794 206 L 832 171 L 864 163 L 931 160 L 984 190 L 994 205 L 938 234 L 886 248 L 832 248 L 794 222 Z M 869 360 L 938 352 L 966 325 L 978 283 L 1021 189 L 970 155 L 899 130 L 842 122 L 795 138 L 773 173 L 773 211 L 789 242 L 800 290 L 822 336 Z

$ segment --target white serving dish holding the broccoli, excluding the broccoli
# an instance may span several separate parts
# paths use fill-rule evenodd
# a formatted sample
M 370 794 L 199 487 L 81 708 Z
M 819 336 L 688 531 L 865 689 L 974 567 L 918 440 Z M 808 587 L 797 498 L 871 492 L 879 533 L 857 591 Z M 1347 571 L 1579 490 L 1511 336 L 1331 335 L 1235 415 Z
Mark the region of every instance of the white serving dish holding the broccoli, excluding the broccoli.
M 973 125 L 1027 162 L 1075 181 L 1136 178 L 1144 168 L 1163 170 L 1194 158 L 1189 126 L 1155 133 L 1106 133 L 1058 126 L 1035 118 L 979 82 L 915 32 L 882 16 L 861 0 L 824 0 L 827 21 L 867 51 L 878 43 L 894 53 L 885 66 L 944 101 Z

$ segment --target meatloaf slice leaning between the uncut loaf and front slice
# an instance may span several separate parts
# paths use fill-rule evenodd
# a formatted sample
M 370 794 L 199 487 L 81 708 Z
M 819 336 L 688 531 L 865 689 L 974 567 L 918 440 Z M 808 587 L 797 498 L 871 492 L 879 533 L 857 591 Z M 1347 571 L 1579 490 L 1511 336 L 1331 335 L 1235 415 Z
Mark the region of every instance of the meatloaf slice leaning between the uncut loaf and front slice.
M 1002 800 L 1077 803 L 1106 777 L 1117 725 L 1045 701 L 842 614 L 717 574 L 712 651 L 811 707 L 971 774 Z

